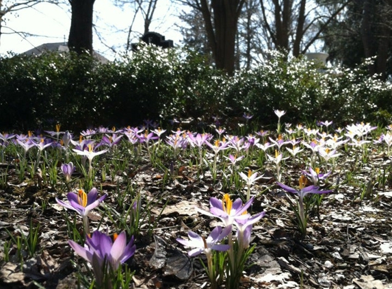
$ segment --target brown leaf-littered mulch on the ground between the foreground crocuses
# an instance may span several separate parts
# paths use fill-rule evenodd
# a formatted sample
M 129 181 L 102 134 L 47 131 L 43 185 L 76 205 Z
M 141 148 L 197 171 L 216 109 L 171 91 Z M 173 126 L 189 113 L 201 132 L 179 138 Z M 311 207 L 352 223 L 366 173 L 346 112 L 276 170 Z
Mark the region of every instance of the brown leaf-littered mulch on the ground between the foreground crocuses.
M 253 265 L 244 273 L 242 288 L 392 288 L 390 162 L 378 155 L 356 166 L 356 179 L 367 184 L 362 200 L 358 196 L 363 188 L 345 179 L 344 172 L 352 169 L 352 163 L 341 162 L 332 176 L 335 182 L 339 179 L 340 186 L 324 197 L 318 216 L 309 216 L 306 238 L 300 238 L 293 223 L 289 197 L 274 185 L 273 177 L 267 177 L 272 168 L 265 168 L 265 177 L 252 187 L 252 193 L 258 194 L 252 211 L 265 210 L 266 215 L 254 225 Z M 387 171 L 385 184 L 380 184 L 374 173 L 381 169 Z M 16 246 L 12 247 L 10 261 L 1 262 L 0 288 L 77 288 L 73 261 L 81 264 L 81 258 L 68 246 L 64 211 L 55 203 L 59 192 L 42 186 L 36 178 L 20 183 L 12 166 L 1 164 L 0 170 L 8 179 L 8 186 L 0 190 L 0 260 L 3 244 L 10 240 L 8 232 L 18 236 L 26 234 L 30 222 L 40 224 L 36 255 L 25 255 L 21 264 Z M 218 179 L 213 184 L 208 173 L 198 178 L 196 170 L 183 166 L 178 175 L 165 181 L 159 168 L 144 161 L 133 164 L 125 174 L 118 173 L 118 181 L 106 179 L 94 184 L 97 188 L 102 185 L 103 192 L 109 194 L 104 205 L 116 206 L 118 184 L 133 184 L 144 205 L 146 201 L 155 204 L 151 218 L 158 218 L 156 227 L 142 225 L 142 235 L 136 240 L 138 249 L 127 262 L 135 271 L 135 288 L 209 288 L 198 258 L 187 257 L 175 241 L 179 236 L 185 238 L 189 229 L 207 234 L 217 225 L 217 219 L 198 214 L 194 207 L 208 210 L 209 198 L 224 194 L 222 183 Z M 298 172 L 295 167 L 285 170 Z M 47 201 L 46 206 L 42 200 Z M 91 213 L 92 227 L 101 221 L 102 210 Z M 103 223 L 110 223 L 107 216 L 103 218 Z

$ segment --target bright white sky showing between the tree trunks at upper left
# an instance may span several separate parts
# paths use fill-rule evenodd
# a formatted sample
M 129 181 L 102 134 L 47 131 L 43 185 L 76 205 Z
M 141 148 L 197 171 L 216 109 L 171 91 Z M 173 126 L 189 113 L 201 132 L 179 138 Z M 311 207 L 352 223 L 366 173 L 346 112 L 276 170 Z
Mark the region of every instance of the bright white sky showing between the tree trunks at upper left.
M 165 36 L 166 40 L 173 40 L 174 45 L 181 45 L 181 34 L 176 25 L 180 24 L 177 15 L 181 10 L 171 0 L 159 0 L 154 20 L 151 23 L 150 31 L 158 32 Z M 7 0 L 3 1 L 3 4 Z M 118 8 L 112 0 L 96 0 L 94 3 L 94 25 L 99 36 L 94 33 L 94 50 L 104 55 L 109 60 L 114 60 L 117 53 L 123 53 L 127 42 L 127 32 L 133 18 L 131 6 Z M 68 41 L 70 28 L 70 5 L 57 5 L 40 3 L 33 8 L 26 8 L 17 14 L 6 14 L 7 21 L 1 29 L 0 55 L 12 53 L 22 53 L 39 45 L 48 42 Z M 8 28 L 9 27 L 9 28 Z M 142 16 L 139 14 L 133 25 L 133 41 L 138 42 L 144 25 Z M 12 32 L 26 32 L 31 36 L 21 36 Z M 138 32 L 138 33 L 136 33 Z M 114 53 L 114 51 L 116 53 Z

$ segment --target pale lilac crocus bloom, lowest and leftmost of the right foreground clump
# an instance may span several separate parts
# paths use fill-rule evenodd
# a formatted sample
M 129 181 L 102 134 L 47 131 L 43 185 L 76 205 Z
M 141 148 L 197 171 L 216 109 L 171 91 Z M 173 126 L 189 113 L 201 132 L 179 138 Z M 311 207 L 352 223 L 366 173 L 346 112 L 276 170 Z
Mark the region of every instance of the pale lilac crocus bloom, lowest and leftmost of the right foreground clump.
M 206 255 L 209 255 L 211 253 L 211 250 L 227 251 L 228 249 L 230 249 L 230 245 L 228 244 L 217 244 L 218 242 L 226 238 L 226 236 L 228 236 L 230 232 L 231 226 L 227 226 L 224 229 L 218 226 L 211 231 L 211 234 L 209 234 L 207 239 L 199 236 L 193 231 L 188 231 L 188 237 L 190 238 L 190 240 L 183 240 L 181 238 L 177 238 L 176 240 L 184 246 L 194 248 L 188 252 L 188 255 L 190 255 L 191 257 L 199 255 L 203 252 Z

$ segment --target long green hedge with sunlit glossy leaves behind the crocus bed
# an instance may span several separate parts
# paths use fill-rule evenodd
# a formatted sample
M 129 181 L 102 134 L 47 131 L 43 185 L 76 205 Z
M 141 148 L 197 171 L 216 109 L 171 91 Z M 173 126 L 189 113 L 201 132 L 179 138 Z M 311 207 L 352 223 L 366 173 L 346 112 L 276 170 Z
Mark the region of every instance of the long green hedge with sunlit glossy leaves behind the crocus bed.
M 90 55 L 45 53 L 0 58 L 0 129 L 74 131 L 99 125 L 140 125 L 143 120 L 237 120 L 244 112 L 263 125 L 274 110 L 290 123 L 333 120 L 391 122 L 391 87 L 365 73 L 320 69 L 302 58 L 270 58 L 233 77 L 185 49 L 142 46 L 101 64 Z

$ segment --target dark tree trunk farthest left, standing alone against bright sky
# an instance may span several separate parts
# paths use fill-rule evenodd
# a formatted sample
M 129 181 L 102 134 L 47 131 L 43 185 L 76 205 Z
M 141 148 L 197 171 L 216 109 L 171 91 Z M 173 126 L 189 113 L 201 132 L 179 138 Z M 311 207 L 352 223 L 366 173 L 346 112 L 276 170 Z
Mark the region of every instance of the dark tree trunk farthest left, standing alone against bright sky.
M 95 0 L 69 0 L 71 5 L 68 47 L 78 54 L 92 54 L 92 14 Z

